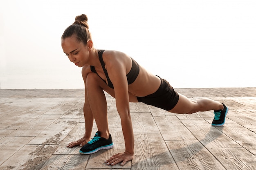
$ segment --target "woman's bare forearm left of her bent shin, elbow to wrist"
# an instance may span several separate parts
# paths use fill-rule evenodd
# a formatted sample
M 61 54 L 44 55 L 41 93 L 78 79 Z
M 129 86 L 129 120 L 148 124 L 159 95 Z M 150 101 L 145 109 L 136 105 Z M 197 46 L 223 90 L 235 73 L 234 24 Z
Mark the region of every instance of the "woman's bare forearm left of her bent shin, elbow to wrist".
M 93 127 L 93 115 L 92 115 L 92 110 L 90 108 L 90 105 L 88 103 L 85 103 L 83 105 L 83 115 L 85 119 L 85 137 L 87 139 L 91 138 L 92 134 L 92 127 Z

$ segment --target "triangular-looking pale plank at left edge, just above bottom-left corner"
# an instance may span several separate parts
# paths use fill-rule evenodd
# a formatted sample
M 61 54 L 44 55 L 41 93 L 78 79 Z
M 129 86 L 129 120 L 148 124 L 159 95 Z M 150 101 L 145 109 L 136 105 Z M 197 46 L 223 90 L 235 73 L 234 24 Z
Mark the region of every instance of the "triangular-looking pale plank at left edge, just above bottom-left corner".
M 7 136 L 0 140 L 0 165 L 34 137 Z

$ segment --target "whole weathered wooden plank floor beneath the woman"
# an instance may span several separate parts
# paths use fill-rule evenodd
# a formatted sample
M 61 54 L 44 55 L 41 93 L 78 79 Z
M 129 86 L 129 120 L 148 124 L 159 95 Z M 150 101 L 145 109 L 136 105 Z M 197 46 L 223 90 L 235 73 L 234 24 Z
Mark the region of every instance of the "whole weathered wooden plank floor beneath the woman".
M 115 147 L 79 155 L 66 144 L 85 132 L 83 89 L 0 89 L 0 170 L 256 170 L 256 88 L 176 89 L 229 107 L 226 124 L 211 126 L 212 111 L 168 113 L 130 103 L 135 157 L 125 166 L 104 161 L 124 151 L 115 99 L 106 95 Z M 93 134 L 97 131 L 94 122 Z

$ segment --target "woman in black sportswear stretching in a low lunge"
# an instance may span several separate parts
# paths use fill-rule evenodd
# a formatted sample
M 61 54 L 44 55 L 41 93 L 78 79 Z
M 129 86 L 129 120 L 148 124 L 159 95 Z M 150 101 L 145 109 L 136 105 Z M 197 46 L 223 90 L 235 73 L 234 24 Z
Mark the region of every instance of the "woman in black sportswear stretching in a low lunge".
M 79 151 L 81 154 L 91 154 L 113 147 L 103 91 L 116 99 L 126 148 L 124 152 L 110 157 L 106 161 L 107 165 L 120 162 L 124 165 L 133 159 L 134 137 L 129 102 L 144 102 L 171 113 L 181 114 L 215 110 L 212 125 L 225 124 L 228 108 L 224 104 L 211 99 L 190 100 L 176 93 L 165 79 L 149 73 L 125 53 L 95 49 L 87 21 L 86 15 L 77 16 L 74 24 L 61 37 L 61 46 L 69 60 L 76 66 L 83 67 L 82 77 L 85 83 L 85 135 L 67 147 L 83 146 Z M 90 140 L 93 119 L 98 132 Z

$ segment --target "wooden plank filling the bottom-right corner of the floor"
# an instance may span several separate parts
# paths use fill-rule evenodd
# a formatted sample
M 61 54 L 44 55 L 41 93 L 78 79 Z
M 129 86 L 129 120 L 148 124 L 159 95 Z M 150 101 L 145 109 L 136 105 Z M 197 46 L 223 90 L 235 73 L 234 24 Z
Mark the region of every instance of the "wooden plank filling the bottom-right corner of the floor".
M 244 148 L 209 150 L 229 170 L 256 170 L 256 156 Z

